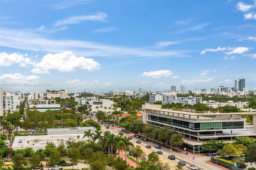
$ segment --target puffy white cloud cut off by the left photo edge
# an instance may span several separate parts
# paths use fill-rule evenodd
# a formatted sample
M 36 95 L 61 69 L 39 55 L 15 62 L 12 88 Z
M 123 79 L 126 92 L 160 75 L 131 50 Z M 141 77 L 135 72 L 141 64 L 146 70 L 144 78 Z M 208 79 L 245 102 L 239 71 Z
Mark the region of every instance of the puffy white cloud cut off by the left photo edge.
M 9 66 L 15 63 L 20 63 L 20 66 L 27 67 L 28 64 L 33 64 L 34 62 L 27 57 L 27 54 L 20 53 L 0 53 L 0 66 Z

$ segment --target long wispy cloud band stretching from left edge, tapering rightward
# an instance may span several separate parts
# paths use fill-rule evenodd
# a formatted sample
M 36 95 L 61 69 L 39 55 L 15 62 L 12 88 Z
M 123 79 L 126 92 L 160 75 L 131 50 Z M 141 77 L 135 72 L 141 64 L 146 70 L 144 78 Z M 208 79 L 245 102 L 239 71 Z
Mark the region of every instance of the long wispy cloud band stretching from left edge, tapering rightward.
M 121 47 L 106 45 L 90 41 L 77 41 L 69 39 L 46 39 L 44 35 L 34 33 L 34 30 L 15 30 L 1 28 L 1 45 L 10 48 L 47 51 L 49 53 L 62 53 L 72 51 L 76 55 L 92 57 L 187 57 L 187 51 L 154 51 L 145 48 Z

